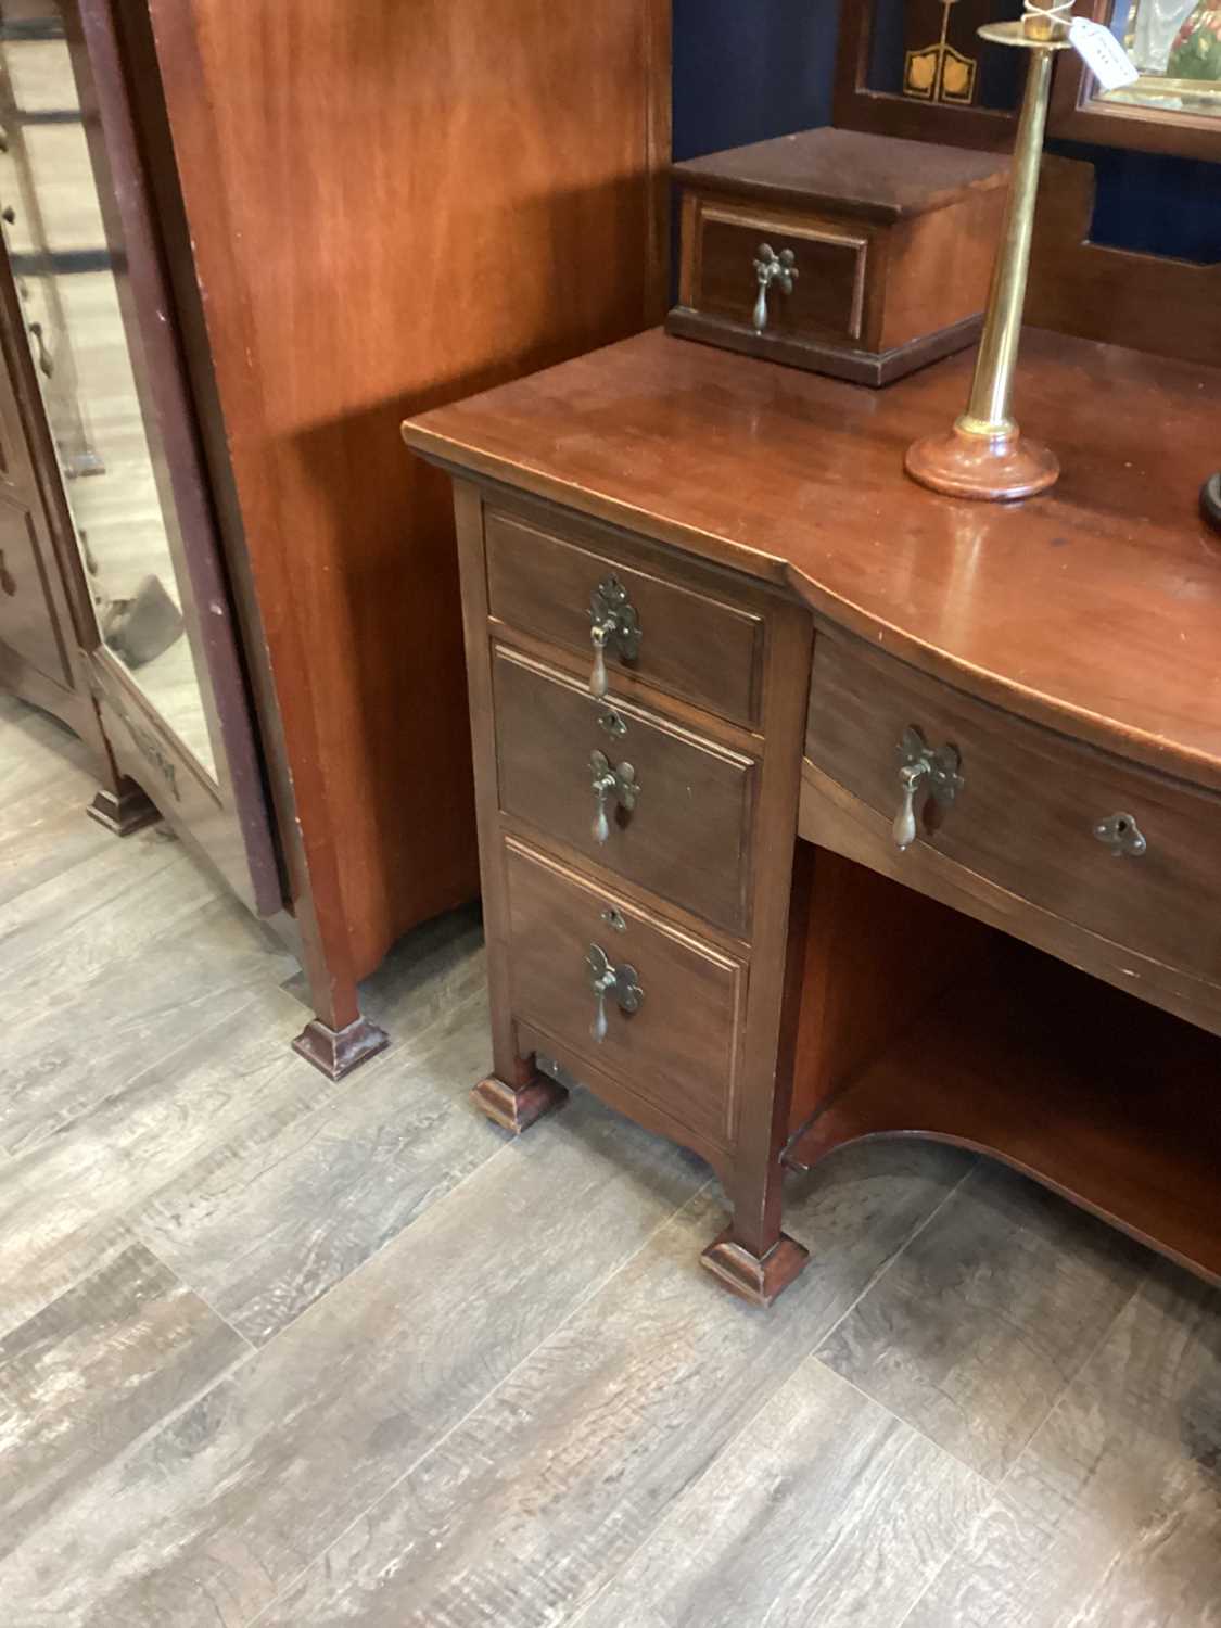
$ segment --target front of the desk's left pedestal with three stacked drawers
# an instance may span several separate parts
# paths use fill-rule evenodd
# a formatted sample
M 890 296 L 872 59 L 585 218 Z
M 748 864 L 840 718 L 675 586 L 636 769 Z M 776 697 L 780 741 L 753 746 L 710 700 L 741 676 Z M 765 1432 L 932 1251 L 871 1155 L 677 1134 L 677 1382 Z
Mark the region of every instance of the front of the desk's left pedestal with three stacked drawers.
M 775 1050 L 809 614 L 516 495 L 459 523 L 493 1024 L 726 1171 L 752 1029 Z

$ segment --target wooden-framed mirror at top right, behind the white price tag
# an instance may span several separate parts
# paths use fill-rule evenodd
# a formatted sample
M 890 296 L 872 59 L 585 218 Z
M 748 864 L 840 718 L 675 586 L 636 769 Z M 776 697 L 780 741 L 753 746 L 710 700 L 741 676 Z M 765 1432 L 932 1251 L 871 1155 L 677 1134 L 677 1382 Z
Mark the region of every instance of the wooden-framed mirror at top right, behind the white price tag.
M 1221 161 L 1221 0 L 1078 0 L 1140 80 L 1104 91 L 1074 52 L 1057 72 L 1052 135 Z

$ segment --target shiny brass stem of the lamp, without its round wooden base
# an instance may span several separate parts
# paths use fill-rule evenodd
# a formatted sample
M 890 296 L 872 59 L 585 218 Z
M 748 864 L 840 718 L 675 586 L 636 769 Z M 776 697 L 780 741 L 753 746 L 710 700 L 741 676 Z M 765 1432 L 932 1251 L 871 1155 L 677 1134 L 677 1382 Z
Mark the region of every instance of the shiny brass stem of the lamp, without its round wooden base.
M 991 274 L 988 316 L 975 361 L 970 400 L 959 427 L 967 435 L 1013 435 L 1013 374 L 1022 335 L 1026 282 L 1031 274 L 1039 166 L 1044 156 L 1047 106 L 1052 93 L 1052 52 L 1034 49 L 1026 78 L 1022 116 L 1013 155 L 1013 179 L 996 267 Z

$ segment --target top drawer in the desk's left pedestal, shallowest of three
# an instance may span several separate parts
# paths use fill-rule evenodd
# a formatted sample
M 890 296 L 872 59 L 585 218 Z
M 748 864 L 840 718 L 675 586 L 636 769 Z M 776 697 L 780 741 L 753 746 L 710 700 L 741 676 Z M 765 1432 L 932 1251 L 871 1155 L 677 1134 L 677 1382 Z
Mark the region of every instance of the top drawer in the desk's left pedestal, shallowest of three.
M 612 578 L 627 593 L 640 627 L 635 656 L 606 645 L 606 664 L 736 723 L 760 716 L 762 615 L 650 570 L 628 567 L 584 544 L 537 531 L 506 514 L 487 516 L 488 607 L 524 633 L 589 656 L 593 594 Z

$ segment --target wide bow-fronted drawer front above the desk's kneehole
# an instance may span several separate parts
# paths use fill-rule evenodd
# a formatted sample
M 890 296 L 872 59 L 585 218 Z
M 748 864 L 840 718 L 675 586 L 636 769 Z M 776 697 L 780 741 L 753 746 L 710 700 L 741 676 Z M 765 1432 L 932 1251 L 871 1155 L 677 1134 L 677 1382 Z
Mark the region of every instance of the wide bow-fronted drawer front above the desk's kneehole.
M 1117 944 L 1221 982 L 1221 799 L 1096 752 L 879 656 L 821 637 L 806 755 L 882 814 L 899 812 L 899 741 L 961 754 L 962 788 L 921 793 L 920 840 Z M 1097 827 L 1125 816 L 1143 853 Z

